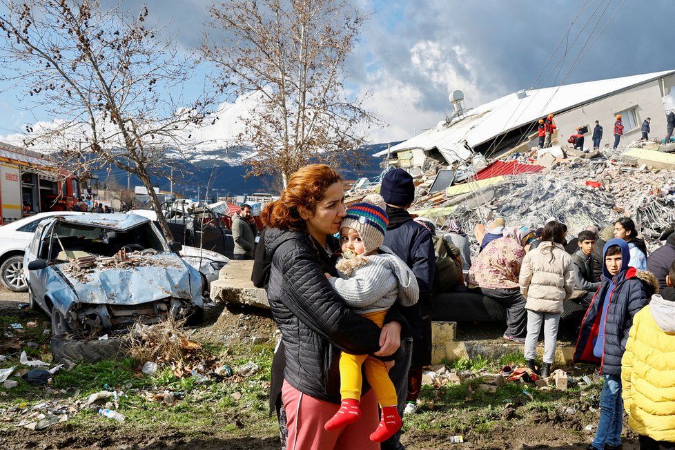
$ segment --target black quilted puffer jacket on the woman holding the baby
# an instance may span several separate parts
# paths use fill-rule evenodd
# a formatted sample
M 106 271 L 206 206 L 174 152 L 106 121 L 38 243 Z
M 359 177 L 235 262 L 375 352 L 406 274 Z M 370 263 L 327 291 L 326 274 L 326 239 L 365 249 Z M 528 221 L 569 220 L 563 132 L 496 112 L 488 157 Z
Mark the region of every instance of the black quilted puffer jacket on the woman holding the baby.
M 337 275 L 331 255 L 309 234 L 267 228 L 263 239 L 264 255 L 257 251 L 252 279 L 256 286 L 266 287 L 282 332 L 284 379 L 302 393 L 339 404 L 340 350 L 375 353 L 380 349 L 380 329 L 353 313 L 333 290 L 324 275 Z M 395 308 L 385 322 L 391 320 L 404 322 Z

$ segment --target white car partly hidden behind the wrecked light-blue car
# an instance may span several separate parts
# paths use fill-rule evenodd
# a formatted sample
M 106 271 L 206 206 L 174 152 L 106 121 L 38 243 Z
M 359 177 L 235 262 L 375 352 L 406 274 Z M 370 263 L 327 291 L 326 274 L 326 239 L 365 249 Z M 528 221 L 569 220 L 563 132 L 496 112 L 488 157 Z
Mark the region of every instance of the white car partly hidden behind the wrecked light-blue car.
M 50 211 L 24 217 L 10 224 L 0 226 L 0 281 L 10 291 L 26 292 L 26 278 L 23 276 L 24 249 L 35 233 L 35 228 L 45 219 L 56 215 L 86 214 L 77 211 Z

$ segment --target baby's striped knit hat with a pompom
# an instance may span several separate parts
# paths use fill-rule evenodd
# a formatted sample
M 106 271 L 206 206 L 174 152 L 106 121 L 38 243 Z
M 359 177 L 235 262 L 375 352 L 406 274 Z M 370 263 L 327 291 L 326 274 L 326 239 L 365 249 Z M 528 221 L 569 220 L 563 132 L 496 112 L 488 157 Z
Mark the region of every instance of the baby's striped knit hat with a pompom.
M 384 242 L 384 232 L 389 224 L 386 208 L 387 204 L 381 195 L 366 195 L 361 202 L 347 208 L 341 228 L 358 231 L 366 252 L 377 250 Z

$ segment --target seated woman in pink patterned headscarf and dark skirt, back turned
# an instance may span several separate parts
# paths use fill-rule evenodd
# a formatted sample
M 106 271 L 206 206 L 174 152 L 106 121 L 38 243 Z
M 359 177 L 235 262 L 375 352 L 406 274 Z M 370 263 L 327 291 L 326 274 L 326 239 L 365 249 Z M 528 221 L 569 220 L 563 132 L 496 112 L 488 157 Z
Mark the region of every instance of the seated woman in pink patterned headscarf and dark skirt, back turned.
M 503 237 L 487 244 L 469 270 L 467 286 L 502 304 L 507 309 L 507 329 L 504 339 L 525 344 L 527 313 L 525 297 L 520 293 L 518 276 L 525 257 L 525 246 L 534 233 L 522 226 L 505 228 Z

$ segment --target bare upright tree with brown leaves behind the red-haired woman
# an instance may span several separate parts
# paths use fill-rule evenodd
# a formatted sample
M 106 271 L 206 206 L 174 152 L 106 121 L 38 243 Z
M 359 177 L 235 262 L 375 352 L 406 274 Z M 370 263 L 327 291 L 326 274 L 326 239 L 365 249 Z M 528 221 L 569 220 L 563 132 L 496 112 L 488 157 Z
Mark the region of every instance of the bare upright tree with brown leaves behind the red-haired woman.
M 344 90 L 345 59 L 366 14 L 347 0 L 228 0 L 209 8 L 202 55 L 222 92 L 253 97 L 239 143 L 253 145 L 248 175 L 286 178 L 308 162 L 358 166 L 379 119 Z

